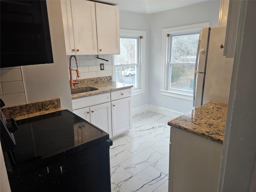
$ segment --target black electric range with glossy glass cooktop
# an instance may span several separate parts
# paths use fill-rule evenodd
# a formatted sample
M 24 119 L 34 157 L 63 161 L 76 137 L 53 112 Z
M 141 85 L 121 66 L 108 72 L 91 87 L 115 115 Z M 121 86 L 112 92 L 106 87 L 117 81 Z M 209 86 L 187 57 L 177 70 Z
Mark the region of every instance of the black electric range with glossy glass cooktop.
M 14 185 L 17 183 L 22 184 L 21 187 L 24 188 L 24 191 L 62 191 L 61 188 L 65 188 L 64 191 L 83 191 L 80 184 L 85 182 L 81 180 L 81 178 L 85 179 L 84 174 L 96 175 L 96 180 L 102 174 L 102 171 L 98 175 L 88 173 L 88 168 L 85 167 L 92 166 L 95 170 L 98 167 L 101 170 L 102 162 L 106 163 L 107 169 L 103 169 L 107 170 L 104 172 L 108 177 L 109 146 L 112 144 L 109 135 L 76 114 L 62 110 L 17 120 L 16 123 L 18 130 L 13 133 L 16 146 L 12 150 L 4 152 L 13 191 L 16 190 Z M 83 167 L 84 171 L 81 172 Z M 64 174 L 65 172 L 66 174 Z M 54 186 L 53 183 L 56 183 L 54 178 L 56 176 L 58 178 L 60 175 L 64 180 L 68 175 L 72 175 L 72 178 L 76 180 L 70 186 L 70 190 L 68 190 L 67 184 Z M 40 179 L 35 179 L 37 176 Z M 41 179 L 42 176 L 45 177 L 44 180 Z M 37 183 L 37 180 L 40 180 L 40 183 Z M 58 183 L 61 183 L 60 180 Z M 110 178 L 107 180 L 109 180 L 107 188 L 110 189 Z M 100 186 L 98 182 L 91 182 Z M 25 186 L 31 183 L 33 183 L 31 187 Z M 42 186 L 42 183 L 47 187 Z M 96 190 L 95 187 L 92 186 L 91 189 L 102 191 L 100 188 Z M 103 191 L 108 191 L 106 186 L 102 188 L 104 188 Z M 20 187 L 17 190 L 22 191 Z

